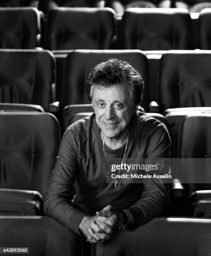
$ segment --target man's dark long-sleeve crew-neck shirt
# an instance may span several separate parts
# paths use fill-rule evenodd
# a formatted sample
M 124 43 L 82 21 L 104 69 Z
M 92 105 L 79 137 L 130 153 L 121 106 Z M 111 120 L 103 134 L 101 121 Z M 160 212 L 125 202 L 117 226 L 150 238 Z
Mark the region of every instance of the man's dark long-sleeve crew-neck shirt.
M 125 157 L 168 158 L 170 143 L 163 123 L 137 111 L 130 122 Z M 83 217 L 95 215 L 106 205 L 112 205 L 112 210 L 117 212 L 124 210 L 134 227 L 158 217 L 168 204 L 167 184 L 146 180 L 138 184 L 119 183 L 115 187 L 113 183 L 106 183 L 108 161 L 105 153 L 109 159 L 123 158 L 124 149 L 125 145 L 115 150 L 105 146 L 103 151 L 94 113 L 70 125 L 62 138 L 45 192 L 46 215 L 79 235 Z

